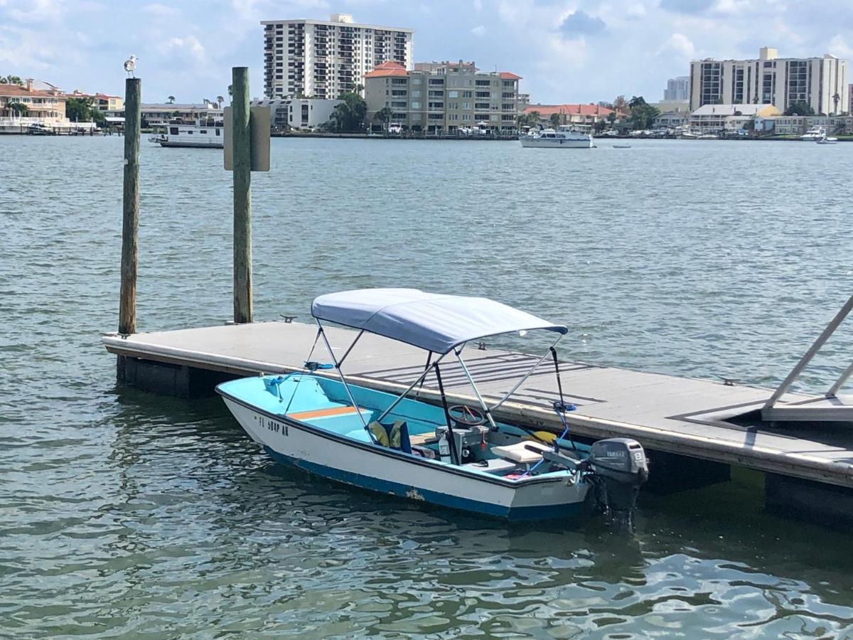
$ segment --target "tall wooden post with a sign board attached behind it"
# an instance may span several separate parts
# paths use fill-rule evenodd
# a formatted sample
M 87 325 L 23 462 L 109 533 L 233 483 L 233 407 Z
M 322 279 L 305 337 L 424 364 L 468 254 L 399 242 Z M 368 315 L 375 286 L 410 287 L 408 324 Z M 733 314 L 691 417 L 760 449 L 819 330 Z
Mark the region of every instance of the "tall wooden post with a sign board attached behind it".
M 252 139 L 249 69 L 232 70 L 231 131 L 234 147 L 234 322 L 252 322 Z

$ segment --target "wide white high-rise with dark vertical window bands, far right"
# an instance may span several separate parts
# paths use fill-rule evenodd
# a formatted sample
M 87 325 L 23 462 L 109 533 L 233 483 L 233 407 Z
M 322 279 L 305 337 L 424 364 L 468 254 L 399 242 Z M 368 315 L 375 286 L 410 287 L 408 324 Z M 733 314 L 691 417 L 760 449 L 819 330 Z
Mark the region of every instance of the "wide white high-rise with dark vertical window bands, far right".
M 690 63 L 690 110 L 706 104 L 772 104 L 785 111 L 792 102 L 807 102 L 815 113 L 850 111 L 847 61 L 822 58 L 780 58 L 763 47 L 757 60 L 715 60 Z

